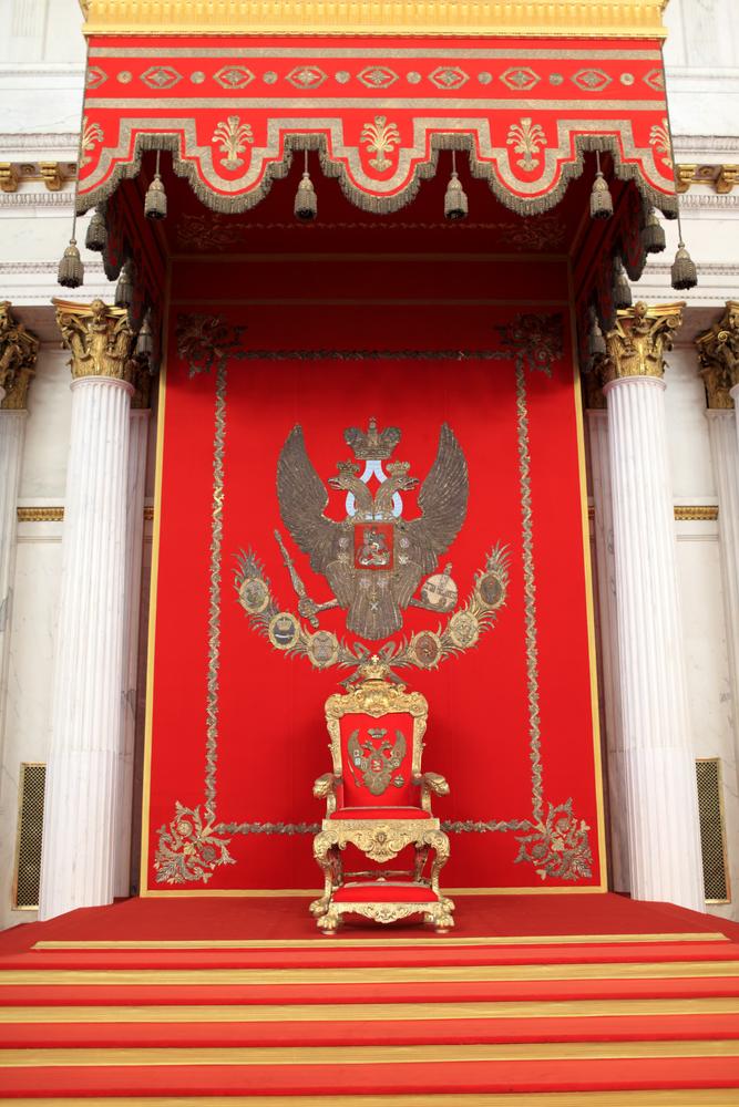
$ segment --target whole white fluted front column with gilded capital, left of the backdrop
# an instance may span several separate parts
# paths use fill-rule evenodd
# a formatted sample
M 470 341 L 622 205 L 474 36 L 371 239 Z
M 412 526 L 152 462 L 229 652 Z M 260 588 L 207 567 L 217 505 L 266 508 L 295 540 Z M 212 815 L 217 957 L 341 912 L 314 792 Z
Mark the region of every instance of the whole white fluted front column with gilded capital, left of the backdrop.
M 72 425 L 39 917 L 110 903 L 121 759 L 130 408 L 125 311 L 57 301 Z

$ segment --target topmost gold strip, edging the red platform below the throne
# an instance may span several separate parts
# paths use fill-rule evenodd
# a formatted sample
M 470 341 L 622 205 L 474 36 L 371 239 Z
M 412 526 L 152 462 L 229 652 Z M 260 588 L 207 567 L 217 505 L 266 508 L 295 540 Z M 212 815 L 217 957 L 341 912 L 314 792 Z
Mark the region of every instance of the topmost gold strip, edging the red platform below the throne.
M 315 938 L 238 941 L 215 939 L 208 941 L 148 941 L 148 942 L 35 942 L 33 950 L 326 950 L 326 949 L 383 949 L 401 950 L 419 945 L 439 949 L 450 945 L 613 945 L 643 942 L 728 942 L 726 934 L 718 931 L 676 934 L 525 934 L 495 938 Z

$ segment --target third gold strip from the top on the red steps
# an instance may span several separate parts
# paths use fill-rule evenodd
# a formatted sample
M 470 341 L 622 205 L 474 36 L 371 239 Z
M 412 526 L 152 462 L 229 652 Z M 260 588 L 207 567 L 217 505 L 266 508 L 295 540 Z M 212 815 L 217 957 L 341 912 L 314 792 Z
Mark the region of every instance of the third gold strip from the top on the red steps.
M 456 1003 L 176 1003 L 165 1006 L 2 1007 L 0 1025 L 17 1023 L 281 1023 L 281 1022 L 432 1022 L 434 1020 L 584 1018 L 667 1015 L 736 1015 L 739 997 L 684 1000 L 545 1000 Z

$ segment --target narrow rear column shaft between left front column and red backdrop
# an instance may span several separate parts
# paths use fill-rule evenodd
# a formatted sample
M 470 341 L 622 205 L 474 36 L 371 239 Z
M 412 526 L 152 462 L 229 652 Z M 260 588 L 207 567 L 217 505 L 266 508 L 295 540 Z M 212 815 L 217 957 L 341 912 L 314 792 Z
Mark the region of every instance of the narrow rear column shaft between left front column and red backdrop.
M 125 613 L 123 631 L 123 732 L 115 814 L 115 894 L 131 891 L 131 819 L 133 816 L 133 764 L 136 744 L 138 684 L 138 615 L 141 566 L 144 542 L 144 493 L 151 412 L 131 412 L 126 493 Z

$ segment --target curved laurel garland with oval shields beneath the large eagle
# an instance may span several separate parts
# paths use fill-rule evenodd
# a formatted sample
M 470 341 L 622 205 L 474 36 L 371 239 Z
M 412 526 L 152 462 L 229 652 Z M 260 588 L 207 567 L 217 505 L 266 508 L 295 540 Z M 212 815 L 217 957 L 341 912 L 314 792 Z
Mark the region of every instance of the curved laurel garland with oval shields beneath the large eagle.
M 237 555 L 234 584 L 238 602 L 250 627 L 267 637 L 271 645 L 291 658 L 306 658 L 315 669 L 352 668 L 342 681 L 350 684 L 361 676 L 362 666 L 377 659 L 390 670 L 438 669 L 443 661 L 474 649 L 480 637 L 492 630 L 497 612 L 505 606 L 509 589 L 507 547 L 493 547 L 475 576 L 466 601 L 435 630 L 419 630 L 400 641 L 370 650 L 362 642 L 348 642 L 332 631 L 311 631 L 299 612 L 283 608 L 275 597 L 264 566 L 253 550 Z

